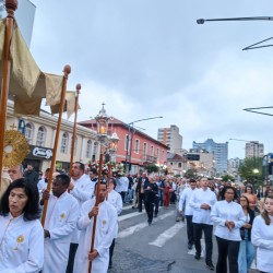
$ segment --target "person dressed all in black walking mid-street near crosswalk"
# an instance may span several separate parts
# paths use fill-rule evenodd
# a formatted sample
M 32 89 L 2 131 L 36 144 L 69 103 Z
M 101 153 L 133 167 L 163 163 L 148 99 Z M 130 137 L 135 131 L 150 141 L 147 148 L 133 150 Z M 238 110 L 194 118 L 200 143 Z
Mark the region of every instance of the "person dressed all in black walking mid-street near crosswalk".
M 147 213 L 149 225 L 151 225 L 153 222 L 154 203 L 157 193 L 158 193 L 158 187 L 155 183 L 155 177 L 151 175 L 149 177 L 149 183 L 144 186 L 144 205 L 145 205 L 145 211 Z

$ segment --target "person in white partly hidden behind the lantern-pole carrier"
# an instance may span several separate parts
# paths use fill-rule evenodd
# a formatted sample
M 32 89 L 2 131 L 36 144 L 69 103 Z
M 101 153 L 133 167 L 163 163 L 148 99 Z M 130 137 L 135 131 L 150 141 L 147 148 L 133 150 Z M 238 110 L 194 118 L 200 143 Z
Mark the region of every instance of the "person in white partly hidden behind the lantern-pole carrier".
M 121 195 L 115 191 L 115 187 L 116 187 L 116 181 L 114 180 L 114 178 L 110 178 L 107 185 L 107 191 L 108 191 L 108 197 L 107 197 L 107 201 L 112 204 L 115 206 L 115 209 L 117 210 L 117 215 L 119 215 L 122 212 L 122 199 Z M 111 269 L 112 266 L 112 254 L 114 254 L 114 248 L 115 248 L 115 241 L 118 237 L 118 221 L 116 224 L 116 232 L 115 232 L 115 237 L 112 239 L 110 249 L 109 249 L 109 269 Z

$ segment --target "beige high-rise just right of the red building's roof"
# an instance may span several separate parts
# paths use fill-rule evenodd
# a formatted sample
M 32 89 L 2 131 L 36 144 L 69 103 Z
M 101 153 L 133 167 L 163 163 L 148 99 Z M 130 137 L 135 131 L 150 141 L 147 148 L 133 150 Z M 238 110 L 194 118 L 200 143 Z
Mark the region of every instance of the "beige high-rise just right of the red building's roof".
M 170 153 L 181 154 L 182 135 L 179 134 L 179 128 L 177 126 L 159 128 L 157 131 L 157 140 L 164 145 L 167 145 Z

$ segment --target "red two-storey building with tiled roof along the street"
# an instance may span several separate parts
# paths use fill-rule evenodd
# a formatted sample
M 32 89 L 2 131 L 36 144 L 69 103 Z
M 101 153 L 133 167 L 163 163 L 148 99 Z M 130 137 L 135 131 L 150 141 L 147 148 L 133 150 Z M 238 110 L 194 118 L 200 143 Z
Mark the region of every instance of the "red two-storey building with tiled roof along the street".
M 78 122 L 81 126 L 96 130 L 96 120 L 91 119 Z M 111 118 L 108 124 L 108 134 L 116 132 L 119 136 L 116 162 L 130 164 L 131 174 L 135 174 L 146 164 L 166 164 L 168 146 L 151 138 L 129 124 Z M 128 136 L 129 135 L 129 136 Z M 128 145 L 129 139 L 129 145 Z

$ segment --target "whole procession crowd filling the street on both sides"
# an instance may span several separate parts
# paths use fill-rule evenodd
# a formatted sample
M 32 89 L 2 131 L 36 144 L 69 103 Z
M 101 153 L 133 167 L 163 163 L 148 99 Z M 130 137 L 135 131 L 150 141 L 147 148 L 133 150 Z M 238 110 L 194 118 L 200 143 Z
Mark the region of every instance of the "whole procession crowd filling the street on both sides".
M 39 178 L 31 165 L 25 170 L 19 165 L 2 176 L 0 272 L 107 272 L 126 203 L 139 212 L 144 206 L 149 226 L 161 206 L 176 204 L 174 219 L 187 222 L 187 248 L 194 247 L 198 262 L 204 234 L 205 265 L 212 271 L 214 230 L 217 273 L 247 273 L 253 260 L 260 272 L 273 272 L 271 188 L 259 200 L 251 185 L 235 187 L 205 177 L 103 175 L 97 183 L 97 170 L 75 162 L 71 178 L 55 171 L 48 190 L 49 171 Z

